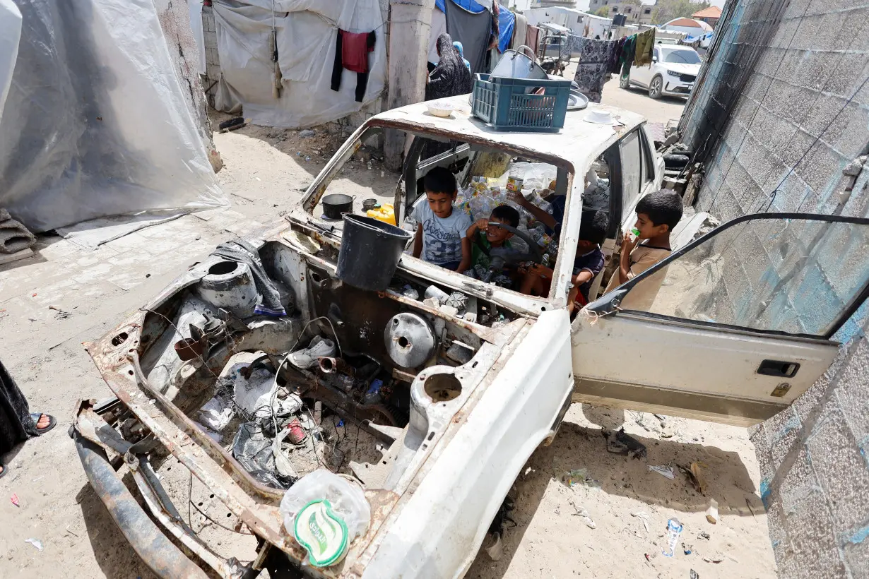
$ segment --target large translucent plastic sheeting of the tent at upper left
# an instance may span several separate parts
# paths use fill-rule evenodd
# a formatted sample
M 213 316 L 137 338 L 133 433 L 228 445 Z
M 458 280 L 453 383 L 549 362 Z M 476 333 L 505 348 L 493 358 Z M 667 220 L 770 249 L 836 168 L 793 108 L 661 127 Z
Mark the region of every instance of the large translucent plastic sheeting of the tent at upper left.
M 152 0 L 15 2 L 23 24 L 0 122 L 0 207 L 46 231 L 227 204 Z M 0 10 L 0 31 L 9 21 Z

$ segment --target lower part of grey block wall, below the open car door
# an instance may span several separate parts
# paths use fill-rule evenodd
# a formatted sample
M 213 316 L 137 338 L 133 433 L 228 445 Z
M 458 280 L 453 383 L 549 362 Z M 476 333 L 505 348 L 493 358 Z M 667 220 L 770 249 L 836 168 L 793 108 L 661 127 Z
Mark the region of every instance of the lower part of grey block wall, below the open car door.
M 753 429 L 779 577 L 869 577 L 869 326 L 791 408 Z

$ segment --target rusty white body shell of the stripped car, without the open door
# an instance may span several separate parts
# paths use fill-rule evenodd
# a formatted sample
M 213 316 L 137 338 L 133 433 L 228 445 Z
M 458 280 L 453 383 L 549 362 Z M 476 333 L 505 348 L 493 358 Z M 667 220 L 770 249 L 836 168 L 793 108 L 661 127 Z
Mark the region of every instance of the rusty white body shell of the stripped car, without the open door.
M 455 103 L 457 110 L 448 119 L 427 115 L 424 105 L 418 104 L 368 120 L 323 168 L 308 188 L 302 207 L 311 212 L 317 206 L 342 164 L 370 131 L 400 129 L 410 135 L 461 141 L 551 163 L 558 168 L 557 188 L 568 195 L 551 292 L 547 297 L 522 295 L 408 255 L 401 258 L 396 279 L 462 293 L 468 304 L 474 304 L 474 315 L 459 318 L 395 289 L 364 292 L 343 284 L 335 275 L 341 242 L 335 227 L 298 210 L 289 215 L 289 224 L 282 223 L 251 240 L 269 277 L 295 296 L 292 315 L 244 315 L 245 310 L 226 296 L 214 298 L 229 299 L 226 303 L 209 303 L 203 295 L 212 294 L 202 293 L 202 280 L 224 271 L 222 258 L 212 255 L 191 266 L 115 330 L 87 345 L 116 400 L 83 401 L 76 408 L 74 422 L 73 435 L 91 484 L 157 575 L 202 576 L 201 569 L 179 559 L 178 549 L 155 547 L 158 543 L 149 543 L 135 528 L 136 517 L 148 518 L 143 511 L 141 515 L 122 513 L 117 508 L 118 499 L 111 494 L 116 485 L 106 480 L 116 475 L 94 465 L 105 462 L 106 451 L 123 457 L 163 527 L 219 576 L 253 573 L 252 569 L 267 565 L 268 559 L 271 564 L 278 561 L 298 569 L 302 576 L 441 578 L 465 574 L 523 464 L 537 446 L 554 437 L 574 385 L 581 382 L 580 375 L 574 380 L 574 373 L 577 368 L 584 371 L 577 362 L 576 345 L 593 342 L 601 326 L 609 322 L 595 324 L 594 316 L 580 315 L 572 327 L 567 313 L 584 189 L 582 179 L 574 177 L 584 174 L 597 157 L 624 143 L 627 136 L 644 140 L 637 144 L 644 167 L 639 174 L 648 178 L 642 188 L 638 182 L 633 197 L 614 195 L 620 204 L 612 215 L 614 230 L 618 230 L 623 222 L 631 221 L 637 199 L 660 188 L 662 164 L 650 155 L 651 141 L 642 117 L 627 111 L 590 105 L 614 114 L 618 124 L 594 125 L 583 122 L 579 114 L 568 114 L 558 135 L 517 135 L 496 133 L 470 119 L 467 97 L 457 97 Z M 619 167 L 618 160 L 612 166 Z M 620 181 L 614 177 L 617 186 Z M 401 193 L 396 194 L 396 201 L 401 203 Z M 401 205 L 397 210 L 401 211 Z M 218 338 L 209 342 L 208 353 L 200 359 L 183 362 L 173 345 L 191 338 L 187 325 L 200 320 L 205 311 L 220 320 L 215 330 Z M 434 365 L 408 369 L 389 361 L 383 328 L 398 313 L 411 313 L 435 328 L 438 353 Z M 216 377 L 232 356 L 264 352 L 279 357 L 311 324 L 321 332 L 334 333 L 342 347 L 377 359 L 381 369 L 398 377 L 396 384 L 401 383 L 408 395 L 405 420 L 396 418 L 401 409 L 394 405 L 374 408 L 342 397 L 317 380 L 287 378 L 303 395 L 322 401 L 342 420 L 352 422 L 357 434 L 370 435 L 383 448 L 381 460 L 350 464 L 370 504 L 371 522 L 367 532 L 350 544 L 342 562 L 326 568 L 298 567 L 306 553 L 283 527 L 278 509 L 283 490 L 252 477 L 189 416 L 211 398 Z M 456 343 L 472 351 L 468 357 L 457 360 L 444 354 L 448 345 Z M 274 366 L 276 373 L 281 371 L 281 365 Z M 593 396 L 590 391 L 583 395 Z M 670 400 L 667 408 L 680 413 L 680 401 Z M 704 417 L 726 421 L 728 409 L 709 411 Z M 130 436 L 130 432 L 137 434 Z M 259 538 L 256 561 L 242 566 L 224 560 L 189 529 L 153 476 L 149 451 L 155 447 L 176 457 Z

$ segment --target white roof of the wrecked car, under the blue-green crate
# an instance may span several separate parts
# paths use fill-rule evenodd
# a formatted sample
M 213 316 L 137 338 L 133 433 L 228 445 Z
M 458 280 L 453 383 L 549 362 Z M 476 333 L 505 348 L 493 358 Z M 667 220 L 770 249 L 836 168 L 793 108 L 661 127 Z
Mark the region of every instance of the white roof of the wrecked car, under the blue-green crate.
M 558 133 L 496 131 L 471 115 L 468 95 L 453 96 L 439 102 L 453 105 L 453 114 L 447 118 L 430 115 L 427 103 L 417 102 L 375 115 L 366 124 L 505 149 L 576 173 L 585 171 L 607 147 L 646 122 L 637 113 L 590 102 L 586 109 L 567 111 L 564 128 Z M 586 115 L 594 110 L 610 113 L 619 124 L 602 125 L 584 121 Z

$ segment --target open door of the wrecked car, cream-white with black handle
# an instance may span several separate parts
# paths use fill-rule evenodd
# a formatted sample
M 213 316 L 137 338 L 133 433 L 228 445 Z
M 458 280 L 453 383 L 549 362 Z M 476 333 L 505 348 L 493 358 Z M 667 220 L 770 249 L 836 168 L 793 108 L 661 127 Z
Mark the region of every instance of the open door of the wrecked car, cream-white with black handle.
M 770 418 L 830 366 L 833 337 L 853 333 L 843 326 L 869 295 L 866 247 L 867 219 L 729 221 L 580 312 L 574 402 L 738 425 Z

